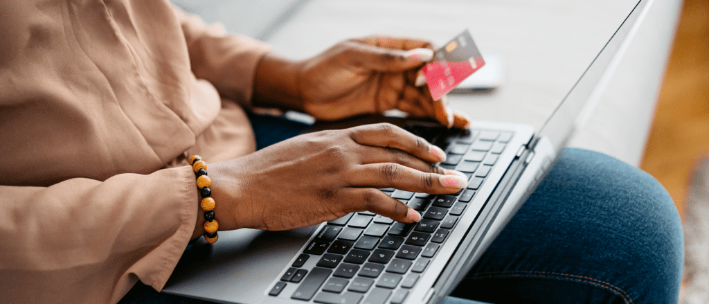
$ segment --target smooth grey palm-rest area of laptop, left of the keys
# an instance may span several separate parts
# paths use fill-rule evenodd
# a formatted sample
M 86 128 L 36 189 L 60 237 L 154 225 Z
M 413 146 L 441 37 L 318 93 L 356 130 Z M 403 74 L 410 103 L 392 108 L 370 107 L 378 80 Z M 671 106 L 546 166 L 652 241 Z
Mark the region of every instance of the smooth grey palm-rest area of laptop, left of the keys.
M 316 227 L 281 232 L 219 232 L 215 244 L 200 240 L 182 255 L 164 293 L 235 303 L 260 303 L 264 291 L 308 241 Z

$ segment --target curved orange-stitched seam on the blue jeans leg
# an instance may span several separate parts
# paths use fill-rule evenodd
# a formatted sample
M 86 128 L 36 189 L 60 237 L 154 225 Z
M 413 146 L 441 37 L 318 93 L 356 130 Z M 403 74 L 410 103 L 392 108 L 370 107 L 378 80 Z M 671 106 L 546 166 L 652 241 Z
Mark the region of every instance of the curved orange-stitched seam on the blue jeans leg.
M 471 279 L 480 279 L 480 278 L 505 278 L 505 277 L 537 277 L 537 278 L 559 278 L 567 281 L 577 281 L 579 283 L 588 283 L 591 284 L 592 286 L 596 286 L 599 288 L 603 288 L 607 291 L 610 291 L 611 293 L 615 295 L 619 295 L 621 298 L 623 298 L 623 301 L 626 304 L 632 304 L 632 299 L 630 298 L 630 295 L 627 295 L 625 291 L 623 291 L 622 288 L 619 288 L 618 286 L 615 286 L 611 283 L 597 280 L 596 278 L 589 278 L 588 276 L 578 276 L 575 274 L 561 274 L 557 272 L 547 272 L 547 271 L 494 271 L 494 272 L 484 272 L 484 273 L 479 273 L 479 274 L 474 274 L 473 276 L 469 276 L 468 278 Z

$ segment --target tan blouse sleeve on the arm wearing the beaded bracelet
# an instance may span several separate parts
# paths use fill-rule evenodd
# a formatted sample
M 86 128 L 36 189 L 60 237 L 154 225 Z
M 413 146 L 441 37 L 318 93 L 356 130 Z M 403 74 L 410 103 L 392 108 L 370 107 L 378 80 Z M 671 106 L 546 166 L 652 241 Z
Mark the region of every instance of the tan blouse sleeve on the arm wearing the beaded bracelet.
M 0 186 L 0 205 L 0 298 L 10 303 L 116 303 L 138 279 L 160 291 L 199 208 L 189 166 Z

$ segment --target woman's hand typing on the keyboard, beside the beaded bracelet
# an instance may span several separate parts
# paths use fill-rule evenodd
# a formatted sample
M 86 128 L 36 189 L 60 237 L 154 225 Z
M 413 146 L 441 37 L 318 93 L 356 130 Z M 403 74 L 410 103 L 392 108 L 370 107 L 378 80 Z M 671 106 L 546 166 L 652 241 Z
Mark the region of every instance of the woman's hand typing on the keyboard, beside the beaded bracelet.
M 443 159 L 440 148 L 382 123 L 300 135 L 208 171 L 220 230 L 288 230 L 367 210 L 418 222 L 418 212 L 378 188 L 455 193 L 467 186 L 462 173 L 431 164 Z

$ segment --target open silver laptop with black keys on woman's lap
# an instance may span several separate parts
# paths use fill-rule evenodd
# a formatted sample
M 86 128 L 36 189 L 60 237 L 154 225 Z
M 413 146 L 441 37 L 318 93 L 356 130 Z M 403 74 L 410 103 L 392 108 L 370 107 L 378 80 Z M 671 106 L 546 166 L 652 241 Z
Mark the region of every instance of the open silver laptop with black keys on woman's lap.
M 216 244 L 200 240 L 185 252 L 162 292 L 242 304 L 441 303 L 584 124 L 651 4 L 637 2 L 540 130 L 481 121 L 446 130 L 397 120 L 444 148 L 440 166 L 469 176 L 467 188 L 452 195 L 381 189 L 419 210 L 420 223 L 365 212 L 286 232 L 220 232 Z

